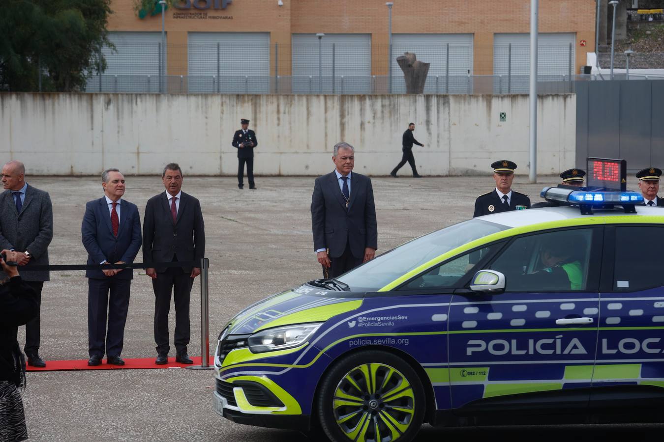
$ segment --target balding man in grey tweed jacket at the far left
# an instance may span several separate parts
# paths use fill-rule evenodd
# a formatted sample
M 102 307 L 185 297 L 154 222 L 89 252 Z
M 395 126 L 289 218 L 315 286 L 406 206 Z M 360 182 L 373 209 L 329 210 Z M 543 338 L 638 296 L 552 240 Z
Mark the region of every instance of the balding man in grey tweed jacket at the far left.
M 32 266 L 48 265 L 48 245 L 53 238 L 53 209 L 48 193 L 25 182 L 25 166 L 10 161 L 2 168 L 0 194 L 0 249 L 21 252 L 19 274 L 37 292 L 41 305 L 44 281 L 48 270 L 29 271 Z M 39 356 L 40 317 L 25 325 L 25 355 L 28 365 L 45 367 Z

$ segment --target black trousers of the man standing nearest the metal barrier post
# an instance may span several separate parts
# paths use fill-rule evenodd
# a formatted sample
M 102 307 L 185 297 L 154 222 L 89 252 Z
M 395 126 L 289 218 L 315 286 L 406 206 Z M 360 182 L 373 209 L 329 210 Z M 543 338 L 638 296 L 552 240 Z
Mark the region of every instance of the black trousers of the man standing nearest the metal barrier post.
M 191 338 L 189 324 L 189 300 L 191 299 L 191 286 L 193 278 L 191 273 L 185 273 L 180 267 L 167 268 L 163 273 L 157 273 L 157 279 L 152 280 L 155 291 L 155 343 L 157 353 L 168 354 L 169 345 L 168 314 L 171 311 L 171 291 L 175 302 L 175 350 L 180 353 L 187 351 Z

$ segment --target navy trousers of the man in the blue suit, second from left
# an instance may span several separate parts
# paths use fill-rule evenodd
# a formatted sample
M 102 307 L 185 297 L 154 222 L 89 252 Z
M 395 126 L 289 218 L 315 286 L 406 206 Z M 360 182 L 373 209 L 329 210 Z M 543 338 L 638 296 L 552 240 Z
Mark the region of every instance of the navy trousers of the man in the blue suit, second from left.
M 123 270 L 124 272 L 127 270 Z M 129 311 L 131 280 L 88 278 L 88 353 L 120 356 Z M 108 331 L 106 313 L 108 311 Z

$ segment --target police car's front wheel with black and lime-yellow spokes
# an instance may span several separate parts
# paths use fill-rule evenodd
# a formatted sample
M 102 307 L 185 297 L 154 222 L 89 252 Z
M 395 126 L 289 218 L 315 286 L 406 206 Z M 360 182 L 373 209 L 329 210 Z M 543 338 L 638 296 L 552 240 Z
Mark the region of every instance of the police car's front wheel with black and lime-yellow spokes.
M 385 351 L 339 360 L 323 378 L 317 401 L 321 427 L 333 442 L 408 442 L 425 408 L 418 374 Z

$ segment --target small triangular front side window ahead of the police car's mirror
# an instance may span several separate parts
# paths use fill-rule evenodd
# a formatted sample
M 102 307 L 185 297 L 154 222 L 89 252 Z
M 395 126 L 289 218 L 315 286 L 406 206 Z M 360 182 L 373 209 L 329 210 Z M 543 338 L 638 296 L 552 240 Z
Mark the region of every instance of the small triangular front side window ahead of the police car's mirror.
M 463 276 L 472 272 L 479 256 L 487 256 L 492 247 L 483 247 L 473 252 L 462 254 L 444 264 L 435 266 L 428 272 L 418 276 L 399 290 L 427 290 L 453 288 Z

